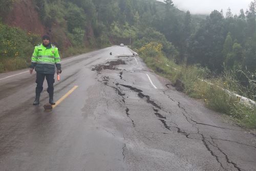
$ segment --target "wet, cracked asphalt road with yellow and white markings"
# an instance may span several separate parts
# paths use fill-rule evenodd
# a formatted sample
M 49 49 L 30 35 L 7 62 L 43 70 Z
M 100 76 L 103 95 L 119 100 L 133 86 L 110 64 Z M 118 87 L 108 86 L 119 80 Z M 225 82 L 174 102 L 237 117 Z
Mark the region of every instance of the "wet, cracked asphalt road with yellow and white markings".
M 0 170 L 256 170 L 255 135 L 131 55 L 113 46 L 63 59 L 52 111 L 46 81 L 32 105 L 35 73 L 0 74 Z

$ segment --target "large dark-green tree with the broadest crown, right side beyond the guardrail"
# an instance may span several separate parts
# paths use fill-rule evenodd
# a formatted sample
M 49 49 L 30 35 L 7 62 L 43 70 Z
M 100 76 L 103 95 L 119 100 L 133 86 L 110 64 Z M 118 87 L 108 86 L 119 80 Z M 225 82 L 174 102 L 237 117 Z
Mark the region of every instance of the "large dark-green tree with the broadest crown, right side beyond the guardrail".
M 211 12 L 190 39 L 188 63 L 200 63 L 212 71 L 222 71 L 224 24 L 224 18 L 220 12 L 216 10 Z

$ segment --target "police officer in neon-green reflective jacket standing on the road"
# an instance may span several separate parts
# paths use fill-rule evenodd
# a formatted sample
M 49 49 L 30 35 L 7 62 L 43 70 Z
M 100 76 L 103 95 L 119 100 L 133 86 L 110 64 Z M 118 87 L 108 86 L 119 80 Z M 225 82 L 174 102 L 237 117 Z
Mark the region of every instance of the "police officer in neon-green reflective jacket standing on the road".
M 34 49 L 34 53 L 31 57 L 30 74 L 33 70 L 36 71 L 36 89 L 35 89 L 35 101 L 33 105 L 39 104 L 40 93 L 42 92 L 42 84 L 45 77 L 48 84 L 47 92 L 49 93 L 49 103 L 55 104 L 53 101 L 53 83 L 55 66 L 57 73 L 61 73 L 60 57 L 58 48 L 51 44 L 49 35 L 42 36 L 42 44 L 37 45 Z

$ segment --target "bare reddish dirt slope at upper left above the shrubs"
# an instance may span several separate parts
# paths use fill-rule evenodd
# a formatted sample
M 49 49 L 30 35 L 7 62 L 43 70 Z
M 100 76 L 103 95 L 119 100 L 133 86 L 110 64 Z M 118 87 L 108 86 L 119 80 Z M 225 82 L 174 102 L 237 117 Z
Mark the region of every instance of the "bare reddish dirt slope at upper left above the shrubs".
M 40 35 L 47 33 L 32 0 L 20 0 L 14 3 L 12 11 L 3 20 L 9 26 L 19 27 Z

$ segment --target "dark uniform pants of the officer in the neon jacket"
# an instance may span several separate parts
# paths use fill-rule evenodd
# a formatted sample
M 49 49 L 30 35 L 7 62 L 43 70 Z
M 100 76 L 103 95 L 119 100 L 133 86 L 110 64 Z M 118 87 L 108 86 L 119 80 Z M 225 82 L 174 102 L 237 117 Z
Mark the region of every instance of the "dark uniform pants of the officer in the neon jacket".
M 40 93 L 42 92 L 42 84 L 44 83 L 44 80 L 47 80 L 48 84 L 48 89 L 47 92 L 49 93 L 49 97 L 53 98 L 53 83 L 55 82 L 54 80 L 54 74 L 42 74 L 42 73 L 36 73 L 36 89 L 35 89 L 35 94 L 40 96 Z

